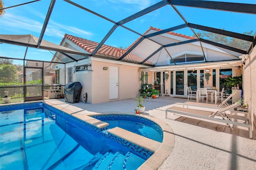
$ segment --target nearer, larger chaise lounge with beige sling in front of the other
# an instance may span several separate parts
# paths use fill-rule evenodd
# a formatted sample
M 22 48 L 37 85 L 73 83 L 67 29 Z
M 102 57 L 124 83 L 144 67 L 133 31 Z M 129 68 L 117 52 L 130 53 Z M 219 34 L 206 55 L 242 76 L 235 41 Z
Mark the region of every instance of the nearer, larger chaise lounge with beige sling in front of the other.
M 234 103 L 234 104 L 232 104 L 228 107 L 224 107 L 216 112 L 202 111 L 202 110 L 197 110 L 197 109 L 188 109 L 188 108 L 174 106 L 174 107 L 170 107 L 170 108 L 166 109 L 165 118 L 167 118 L 167 113 L 171 112 L 174 115 L 179 114 L 179 115 L 185 115 L 185 116 L 190 116 L 190 117 L 196 117 L 196 118 L 200 118 L 200 119 L 206 119 L 206 120 L 210 120 L 210 121 L 226 123 L 232 130 L 233 130 L 233 127 L 231 125 L 247 127 L 249 129 L 250 138 L 252 139 L 252 121 L 251 121 L 251 119 L 233 116 L 233 115 L 229 115 L 226 113 L 226 111 L 230 111 L 231 109 L 233 109 L 234 107 L 237 107 L 240 104 L 241 103 Z M 222 117 L 222 119 L 216 118 L 216 116 L 220 116 L 220 117 Z M 236 121 L 234 121 L 234 119 L 242 120 L 245 123 L 236 122 Z

